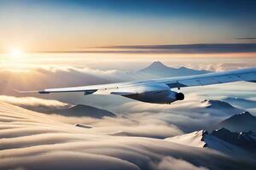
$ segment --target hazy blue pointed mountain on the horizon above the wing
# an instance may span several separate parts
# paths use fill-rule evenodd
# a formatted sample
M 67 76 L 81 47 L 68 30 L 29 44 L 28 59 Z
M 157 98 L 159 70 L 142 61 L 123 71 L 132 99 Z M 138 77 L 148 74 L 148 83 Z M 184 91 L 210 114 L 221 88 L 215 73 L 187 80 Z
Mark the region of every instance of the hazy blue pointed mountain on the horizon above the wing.
M 151 75 L 154 77 L 182 77 L 190 75 L 199 75 L 209 73 L 211 71 L 197 71 L 186 67 L 172 68 L 164 65 L 160 61 L 154 61 L 148 67 L 137 71 L 137 74 Z

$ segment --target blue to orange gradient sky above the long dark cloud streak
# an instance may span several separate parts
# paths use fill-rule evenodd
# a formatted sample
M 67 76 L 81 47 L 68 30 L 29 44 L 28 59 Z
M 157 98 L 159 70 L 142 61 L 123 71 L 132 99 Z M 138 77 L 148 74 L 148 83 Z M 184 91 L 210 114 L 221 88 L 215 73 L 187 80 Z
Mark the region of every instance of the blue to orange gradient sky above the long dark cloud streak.
M 256 1 L 0 2 L 0 50 L 256 42 Z

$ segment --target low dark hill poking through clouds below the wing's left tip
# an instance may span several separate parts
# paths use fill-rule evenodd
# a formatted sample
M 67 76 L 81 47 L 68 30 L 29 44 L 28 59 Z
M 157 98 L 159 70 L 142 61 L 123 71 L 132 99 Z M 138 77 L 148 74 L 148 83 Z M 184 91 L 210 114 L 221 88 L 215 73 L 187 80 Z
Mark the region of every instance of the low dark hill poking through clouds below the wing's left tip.
M 102 118 L 103 116 L 115 117 L 110 111 L 98 109 L 90 105 L 73 105 L 65 109 L 42 111 L 44 113 L 55 113 L 63 116 L 89 116 L 93 118 Z

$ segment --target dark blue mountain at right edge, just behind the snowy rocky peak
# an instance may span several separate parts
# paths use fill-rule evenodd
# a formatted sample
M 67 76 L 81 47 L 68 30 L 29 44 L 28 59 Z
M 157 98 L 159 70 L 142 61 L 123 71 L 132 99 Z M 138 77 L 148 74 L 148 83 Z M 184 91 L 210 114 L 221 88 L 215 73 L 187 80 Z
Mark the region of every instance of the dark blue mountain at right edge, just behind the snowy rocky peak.
M 256 116 L 245 111 L 218 123 L 218 127 L 224 127 L 233 132 L 256 132 Z

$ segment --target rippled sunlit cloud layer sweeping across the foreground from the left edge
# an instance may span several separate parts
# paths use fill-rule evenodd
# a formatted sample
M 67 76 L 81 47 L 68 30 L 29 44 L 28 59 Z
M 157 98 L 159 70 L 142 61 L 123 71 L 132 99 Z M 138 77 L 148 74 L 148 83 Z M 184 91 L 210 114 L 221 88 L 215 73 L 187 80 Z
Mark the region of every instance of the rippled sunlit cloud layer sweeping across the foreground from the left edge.
M 216 151 L 162 139 L 90 133 L 52 116 L 0 104 L 0 169 L 253 169 Z

